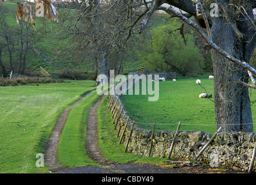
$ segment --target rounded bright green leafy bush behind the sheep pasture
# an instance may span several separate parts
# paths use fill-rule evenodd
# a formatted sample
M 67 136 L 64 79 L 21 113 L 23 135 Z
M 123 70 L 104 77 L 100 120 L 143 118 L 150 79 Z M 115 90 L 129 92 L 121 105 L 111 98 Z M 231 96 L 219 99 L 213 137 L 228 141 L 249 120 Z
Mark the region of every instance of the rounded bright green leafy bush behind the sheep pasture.
M 152 38 L 146 40 L 145 50 L 138 51 L 145 67 L 158 72 L 176 72 L 182 76 L 199 72 L 203 68 L 204 59 L 194 46 L 193 35 L 185 35 L 185 44 L 179 32 L 175 31 L 177 28 L 174 21 L 152 29 Z

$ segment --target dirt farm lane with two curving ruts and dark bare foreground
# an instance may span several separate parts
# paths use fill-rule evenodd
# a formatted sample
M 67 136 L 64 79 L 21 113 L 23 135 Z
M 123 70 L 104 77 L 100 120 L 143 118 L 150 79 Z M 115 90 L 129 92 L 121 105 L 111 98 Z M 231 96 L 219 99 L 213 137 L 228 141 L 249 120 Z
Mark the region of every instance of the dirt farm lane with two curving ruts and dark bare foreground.
M 89 94 L 91 94 L 90 92 Z M 154 165 L 146 163 L 127 163 L 118 164 L 117 162 L 109 161 L 104 158 L 102 152 L 98 147 L 98 122 L 96 116 L 96 110 L 104 98 L 104 95 L 91 107 L 88 116 L 88 125 L 86 131 L 85 149 L 86 153 L 92 160 L 98 162 L 100 166 L 78 166 L 74 169 L 69 169 L 66 166 L 59 164 L 56 153 L 57 145 L 59 144 L 59 138 L 62 133 L 64 124 L 70 110 L 80 103 L 83 99 L 88 97 L 87 94 L 84 98 L 80 99 L 74 105 L 67 108 L 59 117 L 55 128 L 52 131 L 51 139 L 45 146 L 45 162 L 51 168 L 51 172 L 57 173 L 240 173 L 234 169 L 219 169 L 211 168 L 210 166 L 196 165 L 196 166 L 182 166 L 182 165 L 170 165 L 168 163 L 163 165 Z

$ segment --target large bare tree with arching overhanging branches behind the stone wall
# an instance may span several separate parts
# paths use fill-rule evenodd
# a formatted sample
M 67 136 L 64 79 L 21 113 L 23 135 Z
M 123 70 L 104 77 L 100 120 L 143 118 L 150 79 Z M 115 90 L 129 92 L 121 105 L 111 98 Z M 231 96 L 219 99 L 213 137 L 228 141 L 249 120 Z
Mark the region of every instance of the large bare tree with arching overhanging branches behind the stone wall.
M 212 3 L 218 7 L 217 16 L 211 16 Z M 212 49 L 216 129 L 221 126 L 223 131 L 253 131 L 248 88 L 243 87 L 254 88 L 248 85 L 248 79 L 254 82 L 256 76 L 256 70 L 248 64 L 256 47 L 255 7 L 255 1 L 156 0 L 139 27 L 142 32 L 154 11 L 164 10 L 196 29 Z M 185 14 L 193 16 L 194 21 Z M 240 93 L 234 96 L 233 91 Z

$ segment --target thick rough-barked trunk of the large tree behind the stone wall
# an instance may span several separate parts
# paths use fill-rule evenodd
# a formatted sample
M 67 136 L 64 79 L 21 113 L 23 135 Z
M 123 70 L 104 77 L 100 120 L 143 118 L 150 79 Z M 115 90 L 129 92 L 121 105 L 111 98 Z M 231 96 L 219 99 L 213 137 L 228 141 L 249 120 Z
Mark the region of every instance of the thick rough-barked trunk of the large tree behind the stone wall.
M 244 43 L 223 18 L 217 18 L 211 30 L 214 42 L 233 57 L 246 61 Z M 247 71 L 211 51 L 214 70 L 214 101 L 216 130 L 253 132 L 248 88 L 237 83 L 248 82 Z

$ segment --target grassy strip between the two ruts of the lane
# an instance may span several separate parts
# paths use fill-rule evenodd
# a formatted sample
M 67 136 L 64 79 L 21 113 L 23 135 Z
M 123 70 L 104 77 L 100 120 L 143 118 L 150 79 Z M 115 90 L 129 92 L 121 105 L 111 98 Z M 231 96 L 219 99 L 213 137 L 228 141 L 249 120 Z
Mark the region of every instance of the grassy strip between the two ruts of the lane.
M 66 166 L 98 165 L 86 155 L 85 137 L 89 108 L 100 98 L 93 92 L 68 114 L 58 146 L 59 161 Z

